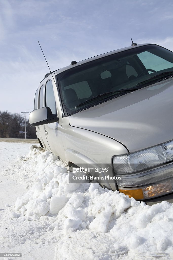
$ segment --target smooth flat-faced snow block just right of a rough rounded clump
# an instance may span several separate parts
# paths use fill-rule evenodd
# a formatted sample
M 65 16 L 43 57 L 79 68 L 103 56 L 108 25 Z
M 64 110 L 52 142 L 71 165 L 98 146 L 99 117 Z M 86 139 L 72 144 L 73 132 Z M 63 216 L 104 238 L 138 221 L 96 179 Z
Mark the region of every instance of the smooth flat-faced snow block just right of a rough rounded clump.
M 56 196 L 50 200 L 50 213 L 57 214 L 67 203 L 68 198 L 65 195 Z

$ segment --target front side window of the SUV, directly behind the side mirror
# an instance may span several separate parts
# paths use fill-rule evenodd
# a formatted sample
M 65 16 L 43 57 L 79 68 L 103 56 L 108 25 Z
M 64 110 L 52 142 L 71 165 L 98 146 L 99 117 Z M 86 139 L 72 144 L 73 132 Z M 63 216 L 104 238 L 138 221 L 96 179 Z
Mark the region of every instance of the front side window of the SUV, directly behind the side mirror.
M 50 107 L 52 114 L 57 114 L 55 97 L 53 93 L 53 86 L 51 80 L 46 82 L 45 105 L 46 107 Z

